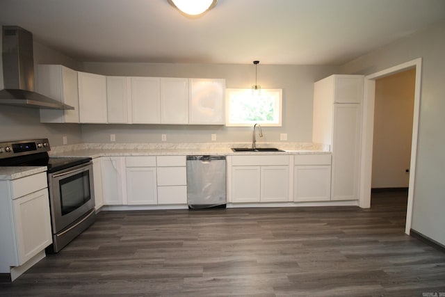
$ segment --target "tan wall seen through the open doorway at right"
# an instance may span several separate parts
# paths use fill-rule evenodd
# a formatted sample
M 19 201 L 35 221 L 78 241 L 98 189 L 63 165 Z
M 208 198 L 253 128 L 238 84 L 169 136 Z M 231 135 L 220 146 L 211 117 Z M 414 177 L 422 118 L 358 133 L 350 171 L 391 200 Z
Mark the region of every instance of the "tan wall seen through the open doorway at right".
M 410 174 L 414 69 L 375 81 L 372 188 L 406 188 Z

